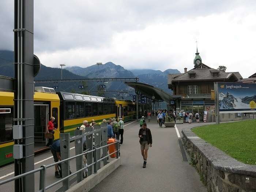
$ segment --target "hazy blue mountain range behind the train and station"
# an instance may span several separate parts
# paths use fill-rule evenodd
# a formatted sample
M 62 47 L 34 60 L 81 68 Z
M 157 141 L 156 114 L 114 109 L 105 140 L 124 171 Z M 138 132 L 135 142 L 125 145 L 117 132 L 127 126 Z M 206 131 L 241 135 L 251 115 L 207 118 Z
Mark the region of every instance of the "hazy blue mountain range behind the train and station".
M 39 58 L 40 59 L 40 58 Z M 0 75 L 14 77 L 14 53 L 8 50 L 0 50 Z M 151 84 L 155 87 L 161 88 L 169 94 L 172 91 L 167 87 L 167 74 L 180 73 L 177 69 L 167 69 L 165 71 L 153 70 L 153 69 L 132 69 L 127 70 L 121 65 L 116 65 L 112 62 L 108 62 L 102 65 L 91 65 L 89 67 L 66 67 L 63 69 L 63 79 L 84 79 L 84 78 L 139 78 L 139 82 Z M 61 79 L 61 69 L 46 67 L 41 65 L 41 69 L 35 80 L 49 80 L 49 79 Z M 85 93 L 86 91 L 91 94 L 104 95 L 105 97 L 116 97 L 117 92 L 109 92 L 99 94 L 99 85 L 104 82 L 87 82 L 87 83 L 45 83 L 36 84 L 36 86 L 53 87 L 58 86 L 58 91 L 70 91 L 75 93 Z M 79 85 L 83 84 L 85 89 L 79 89 Z M 98 86 L 97 86 L 98 85 Z M 126 91 L 128 94 L 134 94 L 133 91 L 129 91 L 129 87 L 123 82 L 108 82 L 106 83 L 106 90 L 112 91 Z M 131 98 L 129 98 L 131 99 Z

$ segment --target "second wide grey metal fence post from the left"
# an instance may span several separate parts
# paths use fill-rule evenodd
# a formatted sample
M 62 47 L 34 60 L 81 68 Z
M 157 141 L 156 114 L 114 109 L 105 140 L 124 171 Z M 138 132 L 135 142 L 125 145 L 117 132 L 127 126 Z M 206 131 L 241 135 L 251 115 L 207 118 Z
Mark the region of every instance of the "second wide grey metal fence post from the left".
M 83 131 L 82 130 L 75 130 L 75 136 L 77 135 L 82 135 Z M 83 139 L 79 138 L 75 140 L 75 154 L 79 155 L 83 153 Z M 79 156 L 76 158 L 76 171 L 80 170 L 83 168 L 83 156 Z M 76 179 L 77 182 L 79 183 L 80 181 L 83 180 L 83 172 L 78 172 L 76 174 Z

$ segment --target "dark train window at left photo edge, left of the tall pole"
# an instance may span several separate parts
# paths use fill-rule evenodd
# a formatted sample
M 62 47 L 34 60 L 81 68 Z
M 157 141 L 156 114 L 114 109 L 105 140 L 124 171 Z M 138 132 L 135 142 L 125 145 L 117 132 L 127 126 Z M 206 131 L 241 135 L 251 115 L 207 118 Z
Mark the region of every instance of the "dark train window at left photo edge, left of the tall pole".
M 12 141 L 12 109 L 8 108 L 5 113 L 2 108 L 0 114 L 0 143 Z

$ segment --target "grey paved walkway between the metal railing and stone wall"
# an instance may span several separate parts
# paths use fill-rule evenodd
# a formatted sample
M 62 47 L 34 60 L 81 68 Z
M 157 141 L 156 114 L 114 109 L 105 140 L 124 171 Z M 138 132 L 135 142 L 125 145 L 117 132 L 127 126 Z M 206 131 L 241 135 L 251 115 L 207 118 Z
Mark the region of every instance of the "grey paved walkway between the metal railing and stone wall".
M 177 127 L 181 134 L 182 127 L 195 125 L 182 124 Z M 153 137 L 153 147 L 148 150 L 147 168 L 142 168 L 139 124 L 135 122 L 125 127 L 121 146 L 122 165 L 91 192 L 206 192 L 195 168 L 188 162 L 182 162 L 176 129 L 159 128 L 156 121 L 148 123 L 147 127 L 151 129 Z

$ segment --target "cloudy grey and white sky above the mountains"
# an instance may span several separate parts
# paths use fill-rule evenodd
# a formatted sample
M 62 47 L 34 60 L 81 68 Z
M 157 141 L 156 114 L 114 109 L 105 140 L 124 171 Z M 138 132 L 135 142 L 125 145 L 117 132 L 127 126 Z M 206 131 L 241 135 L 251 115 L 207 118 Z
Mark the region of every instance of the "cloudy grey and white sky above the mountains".
M 0 49 L 13 50 L 13 0 L 0 0 Z M 203 63 L 256 72 L 255 0 L 35 0 L 34 53 L 50 67 L 112 61 L 126 69 Z

